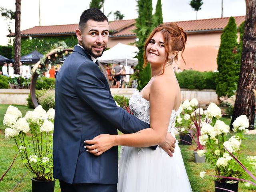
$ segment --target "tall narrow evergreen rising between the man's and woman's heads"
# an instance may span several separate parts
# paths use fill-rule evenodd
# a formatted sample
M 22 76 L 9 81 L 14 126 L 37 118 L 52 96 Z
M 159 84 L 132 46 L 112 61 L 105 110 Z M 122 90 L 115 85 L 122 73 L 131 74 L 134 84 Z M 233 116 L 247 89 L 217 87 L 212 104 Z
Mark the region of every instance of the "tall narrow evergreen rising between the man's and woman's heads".
M 152 0 L 138 0 L 137 6 L 138 18 L 136 19 L 135 32 L 138 38 L 136 46 L 138 47 L 139 52 L 136 56 L 138 58 L 136 69 L 140 71 L 138 89 L 142 90 L 151 78 L 150 65 L 148 64 L 144 69 L 142 69 L 142 66 L 144 63 L 144 44 L 152 29 Z

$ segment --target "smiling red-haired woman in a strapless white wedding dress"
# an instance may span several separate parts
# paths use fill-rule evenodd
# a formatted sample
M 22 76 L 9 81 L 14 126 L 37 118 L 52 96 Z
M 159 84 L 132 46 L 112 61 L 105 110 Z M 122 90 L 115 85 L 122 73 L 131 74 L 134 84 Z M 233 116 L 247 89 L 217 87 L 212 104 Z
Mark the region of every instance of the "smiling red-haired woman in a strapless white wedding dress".
M 172 63 L 179 51 L 183 53 L 186 40 L 186 33 L 175 23 L 157 26 L 146 40 L 144 67 L 150 63 L 152 78 L 141 92 L 134 92 L 129 104 L 134 116 L 150 123 L 150 128 L 135 134 L 103 134 L 85 141 L 92 144 L 86 147 L 95 155 L 112 146 L 124 146 L 120 153 L 119 192 L 192 191 L 178 146 L 173 157 L 160 146 L 156 150 L 146 148 L 164 142 L 167 132 L 173 134 L 181 94 Z

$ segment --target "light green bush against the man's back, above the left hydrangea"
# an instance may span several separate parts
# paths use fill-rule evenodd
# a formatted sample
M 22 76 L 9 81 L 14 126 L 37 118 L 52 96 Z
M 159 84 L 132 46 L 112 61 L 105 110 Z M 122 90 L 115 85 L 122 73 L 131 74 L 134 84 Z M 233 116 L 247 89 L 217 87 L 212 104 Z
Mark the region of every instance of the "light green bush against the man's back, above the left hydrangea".
M 44 110 L 55 108 L 55 90 L 46 90 L 42 96 L 38 98 L 38 101 Z

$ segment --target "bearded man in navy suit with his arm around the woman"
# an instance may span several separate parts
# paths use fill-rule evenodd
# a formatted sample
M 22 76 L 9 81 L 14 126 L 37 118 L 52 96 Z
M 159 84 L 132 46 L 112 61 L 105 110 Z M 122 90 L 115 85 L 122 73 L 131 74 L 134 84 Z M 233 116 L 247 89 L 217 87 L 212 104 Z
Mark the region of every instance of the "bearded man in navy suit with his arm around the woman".
M 150 127 L 117 107 L 111 96 L 96 60 L 106 49 L 108 34 L 106 16 L 95 8 L 85 10 L 76 30 L 78 45 L 56 77 L 53 160 L 62 192 L 116 192 L 118 147 L 95 156 L 86 152 L 83 141 L 117 134 L 117 129 L 128 134 Z M 162 148 L 172 156 L 175 139 L 167 138 Z

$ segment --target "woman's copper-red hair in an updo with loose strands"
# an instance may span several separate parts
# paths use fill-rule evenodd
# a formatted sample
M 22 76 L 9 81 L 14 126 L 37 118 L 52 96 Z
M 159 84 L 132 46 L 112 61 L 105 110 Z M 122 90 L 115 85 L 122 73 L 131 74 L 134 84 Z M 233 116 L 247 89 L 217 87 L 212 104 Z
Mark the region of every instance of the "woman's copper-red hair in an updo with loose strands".
M 154 36 L 154 34 L 156 34 L 157 32 L 161 32 L 164 37 L 164 46 L 165 46 L 165 52 L 166 52 L 164 68 L 165 68 L 166 63 L 169 60 L 168 56 L 171 51 L 182 51 L 181 57 L 182 57 L 182 60 L 185 62 L 182 54 L 185 49 L 185 44 L 187 41 L 187 34 L 176 23 L 169 23 L 169 24 L 162 24 L 162 25 L 159 25 L 156 28 L 154 28 L 154 30 L 151 32 L 148 39 L 146 40 L 146 43 L 144 46 L 143 68 L 145 68 L 148 64 L 148 59 L 146 57 L 146 48 L 147 48 L 150 40 Z M 174 60 L 178 61 L 178 54 L 174 57 Z M 185 64 L 186 64 L 186 62 L 185 62 Z M 164 68 L 163 68 L 163 73 L 164 73 Z

